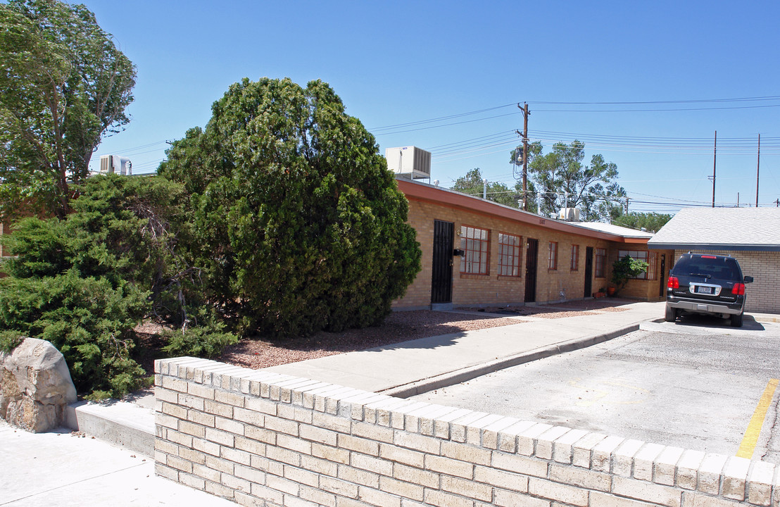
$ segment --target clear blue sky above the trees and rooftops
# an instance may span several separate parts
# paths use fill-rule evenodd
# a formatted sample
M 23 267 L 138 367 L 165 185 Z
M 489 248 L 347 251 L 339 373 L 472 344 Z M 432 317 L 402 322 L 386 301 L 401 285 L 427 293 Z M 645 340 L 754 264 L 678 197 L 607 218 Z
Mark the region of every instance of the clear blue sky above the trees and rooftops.
M 527 101 L 530 140 L 615 162 L 632 211 L 710 204 L 716 130 L 716 203 L 755 204 L 759 134 L 759 202 L 780 198 L 780 2 L 84 3 L 138 69 L 94 169 L 153 172 L 231 83 L 289 76 L 330 83 L 381 153 L 432 151 L 442 186 L 475 167 L 513 186 Z

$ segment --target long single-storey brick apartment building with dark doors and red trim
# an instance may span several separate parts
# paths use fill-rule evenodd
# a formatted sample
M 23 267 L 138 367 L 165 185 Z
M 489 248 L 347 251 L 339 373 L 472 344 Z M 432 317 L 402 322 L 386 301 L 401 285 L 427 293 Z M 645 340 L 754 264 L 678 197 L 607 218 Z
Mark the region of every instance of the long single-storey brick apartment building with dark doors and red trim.
M 399 177 L 422 271 L 396 310 L 552 303 L 592 297 L 610 285 L 612 263 L 647 261 L 621 296 L 665 297 L 673 250 L 648 250 L 647 232 L 603 223 L 564 222 Z

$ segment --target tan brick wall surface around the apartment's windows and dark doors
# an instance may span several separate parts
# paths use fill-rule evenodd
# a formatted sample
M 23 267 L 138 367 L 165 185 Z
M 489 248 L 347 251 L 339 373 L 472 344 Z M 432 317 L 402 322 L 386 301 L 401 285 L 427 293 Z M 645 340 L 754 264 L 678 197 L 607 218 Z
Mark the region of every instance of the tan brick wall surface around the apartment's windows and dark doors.
M 409 223 L 417 231 L 417 241 L 422 250 L 422 271 L 417 274 L 414 282 L 406 289 L 406 295 L 393 303 L 395 309 L 422 308 L 431 305 L 431 275 L 433 271 L 433 241 L 434 220 L 452 222 L 455 229 L 453 248 L 460 247 L 460 227 L 470 225 L 490 231 L 488 275 L 466 275 L 460 273 L 460 257 L 453 257 L 452 265 L 452 303 L 455 306 L 485 306 L 523 304 L 527 276 L 526 249 L 520 253 L 520 276 L 498 276 L 498 233 L 505 232 L 522 236 L 523 246 L 528 238 L 538 239 L 539 254 L 537 261 L 536 302 L 552 303 L 561 300 L 579 300 L 584 296 L 585 288 L 585 254 L 587 246 L 605 248 L 608 251 L 607 273 L 604 278 L 593 278 L 591 293 L 609 285 L 610 267 L 617 259 L 617 250 L 647 250 L 647 246 L 629 246 L 622 243 L 594 239 L 587 236 L 576 236 L 564 232 L 556 232 L 542 226 L 534 227 L 519 222 L 478 215 L 468 211 L 438 206 L 417 200 L 410 201 Z M 547 219 L 540 218 L 540 222 Z M 558 268 L 548 269 L 549 243 L 558 243 Z M 580 246 L 580 262 L 577 271 L 571 271 L 572 245 Z M 671 250 L 668 254 L 671 255 Z M 594 263 L 595 272 L 595 263 Z M 658 300 L 658 278 L 654 281 L 634 280 L 629 282 L 622 294 L 641 300 Z

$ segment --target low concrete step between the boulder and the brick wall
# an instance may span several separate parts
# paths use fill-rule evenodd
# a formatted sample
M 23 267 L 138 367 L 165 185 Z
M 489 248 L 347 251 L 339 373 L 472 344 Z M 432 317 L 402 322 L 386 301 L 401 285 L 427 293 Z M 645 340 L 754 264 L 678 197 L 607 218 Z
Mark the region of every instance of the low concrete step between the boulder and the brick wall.
M 144 456 L 154 456 L 154 405 L 115 400 L 76 402 L 66 410 L 66 426 Z

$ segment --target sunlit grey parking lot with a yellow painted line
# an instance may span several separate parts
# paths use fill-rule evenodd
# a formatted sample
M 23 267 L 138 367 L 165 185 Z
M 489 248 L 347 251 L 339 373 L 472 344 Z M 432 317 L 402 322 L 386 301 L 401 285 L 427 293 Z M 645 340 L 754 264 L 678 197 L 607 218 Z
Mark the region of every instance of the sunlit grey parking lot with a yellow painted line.
M 780 463 L 780 324 L 724 322 L 648 322 L 414 399 Z

